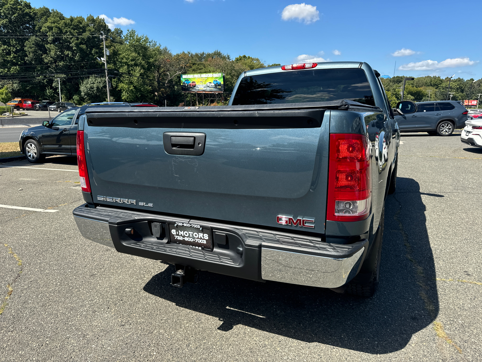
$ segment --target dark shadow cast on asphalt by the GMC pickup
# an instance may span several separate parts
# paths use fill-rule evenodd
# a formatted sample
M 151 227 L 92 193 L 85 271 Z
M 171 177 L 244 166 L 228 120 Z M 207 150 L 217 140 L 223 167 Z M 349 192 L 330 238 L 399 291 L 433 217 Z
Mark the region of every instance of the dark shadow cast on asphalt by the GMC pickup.
M 151 278 L 144 291 L 218 318 L 221 331 L 241 324 L 303 342 L 373 354 L 394 352 L 430 325 L 439 311 L 424 212 L 418 182 L 397 178 L 397 193 L 388 196 L 385 207 L 380 286 L 369 299 L 208 272 L 201 273 L 197 284 L 176 289 L 168 284 L 173 266 Z

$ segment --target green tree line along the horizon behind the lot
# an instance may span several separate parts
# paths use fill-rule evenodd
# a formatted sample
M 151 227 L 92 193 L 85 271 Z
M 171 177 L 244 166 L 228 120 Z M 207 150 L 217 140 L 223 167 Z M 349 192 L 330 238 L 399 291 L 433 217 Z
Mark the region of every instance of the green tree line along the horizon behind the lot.
M 66 17 L 45 6 L 35 8 L 25 0 L 0 0 L 0 88 L 13 97 L 62 100 L 75 104 L 107 100 L 101 34 L 106 36 L 111 101 L 152 102 L 177 106 L 184 102 L 180 75 L 225 73 L 225 92 L 230 93 L 245 70 L 264 68 L 259 58 L 234 59 L 220 51 L 173 54 L 167 47 L 140 35 L 109 29 L 104 19 L 89 15 Z M 382 80 L 387 96 L 395 105 L 404 77 Z M 477 99 L 482 80 L 457 78 L 451 81 L 453 100 Z M 415 101 L 446 98 L 448 78 L 418 77 L 407 81 L 404 99 Z M 227 101 L 228 98 L 226 98 Z M 226 103 L 226 102 L 225 102 Z

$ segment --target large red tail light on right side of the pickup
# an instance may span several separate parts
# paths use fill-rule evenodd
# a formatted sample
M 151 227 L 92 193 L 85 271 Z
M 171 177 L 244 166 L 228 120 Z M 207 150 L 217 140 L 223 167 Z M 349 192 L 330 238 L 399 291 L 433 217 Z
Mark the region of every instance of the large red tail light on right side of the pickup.
M 367 217 L 372 196 L 370 142 L 364 135 L 331 134 L 326 220 Z

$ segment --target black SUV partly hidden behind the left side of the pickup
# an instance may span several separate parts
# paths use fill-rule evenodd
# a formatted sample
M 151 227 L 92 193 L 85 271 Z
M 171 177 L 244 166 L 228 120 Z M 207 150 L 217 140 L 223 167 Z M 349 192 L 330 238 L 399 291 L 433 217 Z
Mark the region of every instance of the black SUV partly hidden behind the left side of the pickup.
M 43 121 L 42 125 L 22 131 L 19 140 L 20 150 L 31 163 L 42 162 L 46 155 L 63 154 L 75 156 L 77 154 L 77 124 L 79 117 L 85 113 L 87 108 L 94 106 L 149 107 L 142 103 L 131 105 L 126 102 L 106 102 L 90 103 L 69 109 L 50 121 Z

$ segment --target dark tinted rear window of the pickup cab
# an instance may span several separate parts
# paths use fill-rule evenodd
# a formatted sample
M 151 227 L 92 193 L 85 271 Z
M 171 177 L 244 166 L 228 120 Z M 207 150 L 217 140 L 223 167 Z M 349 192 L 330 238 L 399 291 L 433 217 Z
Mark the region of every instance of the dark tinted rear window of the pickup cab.
M 298 70 L 244 77 L 236 90 L 233 106 L 341 99 L 375 106 L 362 69 Z

